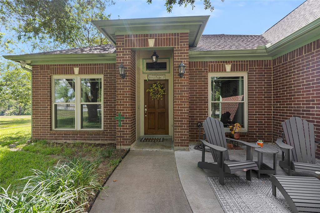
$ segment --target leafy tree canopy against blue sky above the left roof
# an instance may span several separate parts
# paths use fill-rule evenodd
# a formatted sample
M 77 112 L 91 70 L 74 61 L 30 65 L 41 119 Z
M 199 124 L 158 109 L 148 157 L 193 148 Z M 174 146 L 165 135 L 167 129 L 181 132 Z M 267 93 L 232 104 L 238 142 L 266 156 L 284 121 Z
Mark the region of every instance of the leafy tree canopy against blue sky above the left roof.
M 1 26 L 14 31 L 19 42 L 31 43 L 31 52 L 108 43 L 91 21 L 109 19 L 105 10 L 112 0 L 0 0 L 0 4 Z

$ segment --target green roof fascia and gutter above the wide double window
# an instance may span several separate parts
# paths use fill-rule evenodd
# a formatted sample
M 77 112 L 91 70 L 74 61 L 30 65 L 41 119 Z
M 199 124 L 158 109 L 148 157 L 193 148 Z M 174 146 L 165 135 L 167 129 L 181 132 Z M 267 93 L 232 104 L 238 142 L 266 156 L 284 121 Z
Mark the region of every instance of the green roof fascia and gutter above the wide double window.
M 37 64 L 92 64 L 116 63 L 116 53 L 84 53 L 84 54 L 25 54 L 4 55 L 12 61 L 26 61 L 29 65 Z

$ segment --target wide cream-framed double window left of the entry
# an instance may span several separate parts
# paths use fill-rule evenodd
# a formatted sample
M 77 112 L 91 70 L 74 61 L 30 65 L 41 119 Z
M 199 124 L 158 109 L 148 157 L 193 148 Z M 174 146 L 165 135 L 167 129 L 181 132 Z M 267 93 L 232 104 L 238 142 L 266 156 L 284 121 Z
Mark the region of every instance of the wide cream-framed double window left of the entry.
M 52 77 L 52 129 L 102 130 L 103 77 Z

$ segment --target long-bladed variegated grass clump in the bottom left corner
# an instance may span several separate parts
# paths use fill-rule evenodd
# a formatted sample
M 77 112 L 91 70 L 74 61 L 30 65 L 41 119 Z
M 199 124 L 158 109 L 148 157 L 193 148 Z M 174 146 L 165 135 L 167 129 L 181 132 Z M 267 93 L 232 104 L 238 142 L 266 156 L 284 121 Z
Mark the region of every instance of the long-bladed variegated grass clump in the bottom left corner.
M 63 165 L 24 177 L 27 184 L 0 194 L 1 212 L 83 212 L 92 196 L 101 190 L 97 162 L 74 159 Z

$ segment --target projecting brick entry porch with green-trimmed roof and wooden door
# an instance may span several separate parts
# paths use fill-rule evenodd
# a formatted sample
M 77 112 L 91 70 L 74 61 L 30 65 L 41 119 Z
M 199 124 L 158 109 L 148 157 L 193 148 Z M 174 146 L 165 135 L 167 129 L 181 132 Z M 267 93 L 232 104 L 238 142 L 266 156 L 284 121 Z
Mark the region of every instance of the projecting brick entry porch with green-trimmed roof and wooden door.
M 125 76 L 116 77 L 116 111 L 125 117 L 122 127 L 116 127 L 118 148 L 130 148 L 142 135 L 161 134 L 172 137 L 175 150 L 189 150 L 189 47 L 199 42 L 208 18 L 93 21 L 116 47 L 116 67 L 125 67 Z M 161 77 L 151 79 L 144 59 L 150 60 L 155 50 L 160 56 L 158 65 L 162 64 L 154 75 Z M 165 63 L 170 66 L 162 67 Z M 181 63 L 184 75 L 179 75 Z M 144 87 L 149 80 L 167 81 L 161 84 L 168 85 L 168 101 L 154 102 L 154 107 L 149 100 L 145 104 Z

